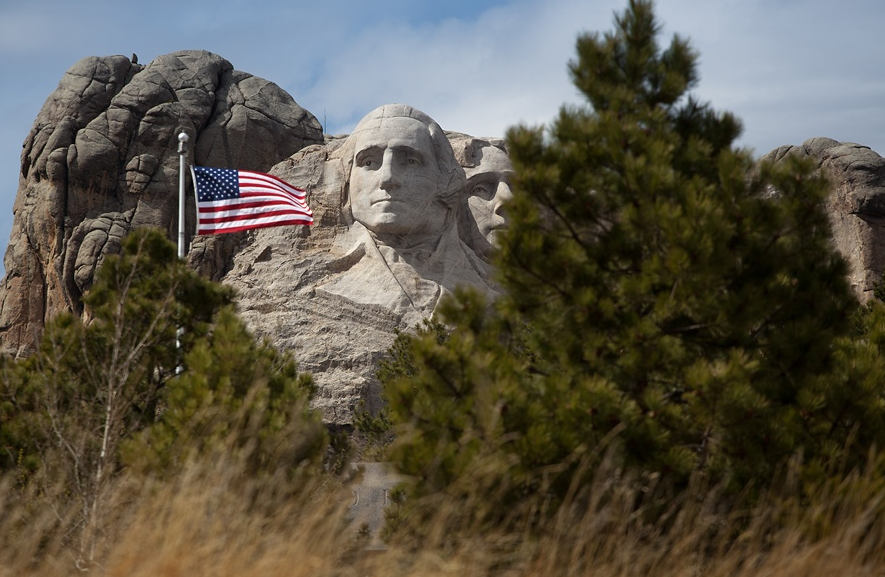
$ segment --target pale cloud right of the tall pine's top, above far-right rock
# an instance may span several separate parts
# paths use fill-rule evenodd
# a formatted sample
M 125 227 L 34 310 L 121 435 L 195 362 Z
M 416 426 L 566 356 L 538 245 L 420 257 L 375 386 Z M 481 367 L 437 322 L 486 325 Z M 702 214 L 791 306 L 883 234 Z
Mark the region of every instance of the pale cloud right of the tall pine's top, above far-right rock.
M 885 153 L 885 51 L 877 0 L 661 2 L 700 51 L 698 93 L 744 121 L 757 154 L 815 136 Z

